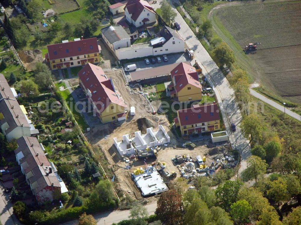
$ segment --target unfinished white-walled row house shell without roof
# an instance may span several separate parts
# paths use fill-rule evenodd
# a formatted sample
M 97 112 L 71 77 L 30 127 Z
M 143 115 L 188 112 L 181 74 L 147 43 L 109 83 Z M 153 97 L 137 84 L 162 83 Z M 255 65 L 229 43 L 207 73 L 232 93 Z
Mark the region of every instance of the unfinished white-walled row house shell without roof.
M 132 155 L 136 151 L 144 151 L 147 148 L 157 147 L 170 142 L 170 137 L 162 125 L 159 130 L 154 131 L 152 127 L 146 129 L 146 134 L 141 135 L 141 131 L 135 132 L 135 137 L 129 134 L 123 135 L 122 141 L 113 138 L 115 147 L 120 155 Z

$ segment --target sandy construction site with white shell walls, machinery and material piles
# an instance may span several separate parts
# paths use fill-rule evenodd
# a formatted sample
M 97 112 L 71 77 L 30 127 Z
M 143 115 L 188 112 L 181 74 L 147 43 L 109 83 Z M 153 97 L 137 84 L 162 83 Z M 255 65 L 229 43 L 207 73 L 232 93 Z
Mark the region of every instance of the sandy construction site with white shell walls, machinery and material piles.
M 158 106 L 149 102 L 139 87 L 126 85 L 120 70 L 105 73 L 122 91 L 128 109 L 135 107 L 135 115 L 128 113 L 123 123 L 95 126 L 87 137 L 107 158 L 115 187 L 122 195 L 151 201 L 151 196 L 168 190 L 178 177 L 193 186 L 197 176 L 213 176 L 237 165 L 227 134 L 225 141 L 218 143 L 213 143 L 210 135 L 184 141 L 176 135 L 167 114 L 155 114 Z

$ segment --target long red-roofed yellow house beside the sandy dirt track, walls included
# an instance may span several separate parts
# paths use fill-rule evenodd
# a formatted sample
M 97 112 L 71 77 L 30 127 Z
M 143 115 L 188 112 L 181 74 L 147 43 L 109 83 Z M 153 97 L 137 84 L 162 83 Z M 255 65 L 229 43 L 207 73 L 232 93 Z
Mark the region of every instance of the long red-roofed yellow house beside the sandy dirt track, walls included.
M 102 123 L 126 119 L 127 105 L 101 67 L 88 63 L 79 73 L 79 86 Z

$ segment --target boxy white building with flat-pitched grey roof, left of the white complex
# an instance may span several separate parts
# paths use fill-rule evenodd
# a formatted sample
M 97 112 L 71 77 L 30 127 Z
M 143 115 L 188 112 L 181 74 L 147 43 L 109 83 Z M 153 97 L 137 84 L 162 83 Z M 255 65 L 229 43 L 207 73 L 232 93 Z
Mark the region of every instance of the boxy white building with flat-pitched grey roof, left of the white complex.
M 131 46 L 131 37 L 120 25 L 111 25 L 101 29 L 101 35 L 113 52 L 116 49 Z

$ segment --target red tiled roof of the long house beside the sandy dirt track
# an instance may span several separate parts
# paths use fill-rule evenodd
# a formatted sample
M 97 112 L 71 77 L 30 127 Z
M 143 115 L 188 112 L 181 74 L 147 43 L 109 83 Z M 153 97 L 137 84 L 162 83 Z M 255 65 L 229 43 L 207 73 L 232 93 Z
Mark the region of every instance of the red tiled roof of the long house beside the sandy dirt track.
M 100 112 L 104 111 L 111 102 L 126 107 L 120 96 L 117 97 L 112 80 L 107 78 L 101 67 L 88 63 L 79 71 L 78 77 L 85 88 L 91 91 L 92 101 Z

